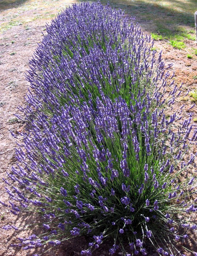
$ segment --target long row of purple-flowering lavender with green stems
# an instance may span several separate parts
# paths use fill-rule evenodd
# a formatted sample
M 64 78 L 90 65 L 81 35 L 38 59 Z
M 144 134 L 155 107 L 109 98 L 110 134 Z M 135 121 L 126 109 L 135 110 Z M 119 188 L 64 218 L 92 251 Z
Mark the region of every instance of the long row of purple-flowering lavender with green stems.
M 174 241 L 196 229 L 194 155 L 186 153 L 197 131 L 181 111 L 165 115 L 180 88 L 133 21 L 82 3 L 47 27 L 30 61 L 28 129 L 5 180 L 9 205 L 2 202 L 16 215 L 40 212 L 43 233 L 14 246 L 86 234 L 92 242 L 82 255 L 108 238 L 111 254 L 146 255 L 151 244 L 160 255 L 181 255 Z

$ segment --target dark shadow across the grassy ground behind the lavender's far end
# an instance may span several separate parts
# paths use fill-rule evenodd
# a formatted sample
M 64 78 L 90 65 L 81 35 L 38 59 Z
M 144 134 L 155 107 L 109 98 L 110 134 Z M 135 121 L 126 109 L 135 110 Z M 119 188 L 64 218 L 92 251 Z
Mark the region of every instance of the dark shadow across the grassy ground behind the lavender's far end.
M 126 14 L 135 16 L 136 21 L 147 32 L 158 33 L 164 38 L 182 36 L 183 27 L 194 30 L 194 12 L 197 10 L 196 0 L 189 0 L 187 3 L 171 0 L 169 5 L 164 5 L 164 1 L 161 0 L 151 2 L 149 0 L 101 0 L 102 4 L 107 2 L 112 7 L 120 8 Z

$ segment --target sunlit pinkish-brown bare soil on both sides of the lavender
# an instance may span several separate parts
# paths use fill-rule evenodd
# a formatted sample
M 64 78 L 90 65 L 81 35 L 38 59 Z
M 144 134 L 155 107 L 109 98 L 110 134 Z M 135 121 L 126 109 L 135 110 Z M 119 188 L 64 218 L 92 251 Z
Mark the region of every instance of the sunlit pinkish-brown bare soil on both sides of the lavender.
M 6 172 L 9 172 L 11 166 L 15 164 L 16 142 L 20 143 L 20 138 L 15 139 L 11 136 L 11 131 L 15 134 L 22 131 L 24 128 L 23 122 L 19 122 L 15 118 L 15 114 L 19 114 L 18 105 L 24 106 L 25 95 L 28 92 L 28 82 L 25 78 L 25 73 L 28 70 L 29 59 L 37 47 L 37 43 L 42 40 L 42 33 L 45 33 L 45 24 L 50 23 L 54 15 L 63 8 L 68 7 L 75 0 L 59 0 L 59 1 L 33 1 L 23 0 L 15 2 L 10 0 L 7 2 L 0 1 L 0 200 L 9 201 L 6 193 L 3 178 L 6 178 Z M 141 27 L 146 31 L 146 23 L 141 22 Z M 183 116 L 187 117 L 192 111 L 192 118 L 197 117 L 197 108 L 193 104 L 193 98 L 189 95 L 184 97 L 187 90 L 196 90 L 197 79 L 197 58 L 188 59 L 187 50 L 195 48 L 195 41 L 186 40 L 186 49 L 174 49 L 166 41 L 156 41 L 155 48 L 158 51 L 163 51 L 163 59 L 166 65 L 173 63 L 172 70 L 175 72 L 175 81 L 178 86 L 183 82 L 183 95 L 177 98 L 175 110 L 179 110 L 181 105 L 185 104 Z M 196 126 L 196 123 L 193 122 Z M 196 148 L 193 148 L 193 153 Z M 194 216 L 195 219 L 195 216 Z M 11 244 L 17 242 L 17 237 L 27 237 L 29 234 L 38 233 L 39 228 L 33 231 L 30 228 L 23 229 L 24 225 L 39 223 L 39 217 L 34 215 L 22 214 L 20 217 L 12 215 L 6 207 L 0 205 L 0 227 L 5 225 L 14 225 L 21 228 L 20 231 L 3 230 L 0 232 L 0 255 L 4 256 L 24 256 L 33 255 L 33 251 L 20 250 L 15 247 L 10 247 Z M 197 251 L 195 247 L 195 237 L 189 247 L 191 250 Z M 50 251 L 43 252 L 45 249 L 38 251 L 43 255 L 59 255 L 71 256 L 80 255 L 80 251 L 87 244 L 87 238 L 77 238 L 69 242 L 63 243 L 59 247 L 55 247 Z M 97 255 L 108 255 L 108 249 L 111 248 L 110 243 L 105 243 L 95 252 Z M 119 254 L 121 255 L 121 252 Z M 149 254 L 150 255 L 150 254 Z M 153 254 L 152 254 L 153 255 Z M 154 255 L 157 255 L 154 254 Z M 187 255 L 192 255 L 187 253 Z

